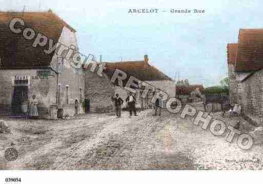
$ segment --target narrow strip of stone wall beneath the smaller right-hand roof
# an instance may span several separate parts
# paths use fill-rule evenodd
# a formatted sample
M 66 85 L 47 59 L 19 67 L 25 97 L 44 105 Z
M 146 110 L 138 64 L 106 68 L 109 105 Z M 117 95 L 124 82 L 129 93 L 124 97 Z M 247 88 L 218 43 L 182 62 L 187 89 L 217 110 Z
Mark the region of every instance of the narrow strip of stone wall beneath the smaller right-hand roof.
M 230 96 L 230 103 L 236 104 L 237 103 L 237 81 L 236 81 L 236 73 L 234 72 L 234 65 L 228 64 L 228 75 L 229 75 L 229 96 Z

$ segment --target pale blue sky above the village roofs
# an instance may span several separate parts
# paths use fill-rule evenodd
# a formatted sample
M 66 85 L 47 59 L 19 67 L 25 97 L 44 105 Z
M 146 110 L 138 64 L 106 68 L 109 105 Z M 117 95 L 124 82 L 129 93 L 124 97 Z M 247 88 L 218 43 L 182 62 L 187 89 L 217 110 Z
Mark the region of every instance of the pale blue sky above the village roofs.
M 143 60 L 171 78 L 205 87 L 220 85 L 228 74 L 228 43 L 238 30 L 263 28 L 259 0 L 0 0 L 0 11 L 52 9 L 77 31 L 80 52 L 102 55 L 103 62 Z M 158 13 L 128 13 L 129 9 L 159 9 Z M 170 13 L 205 10 L 205 13 Z M 163 12 L 166 11 L 166 12 Z

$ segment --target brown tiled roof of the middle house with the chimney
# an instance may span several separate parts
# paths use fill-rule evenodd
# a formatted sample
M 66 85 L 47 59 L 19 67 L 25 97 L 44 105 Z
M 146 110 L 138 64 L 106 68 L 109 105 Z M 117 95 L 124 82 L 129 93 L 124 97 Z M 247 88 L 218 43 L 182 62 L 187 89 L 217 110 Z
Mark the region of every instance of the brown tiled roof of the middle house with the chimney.
M 112 75 L 115 69 L 119 69 L 140 80 L 172 80 L 153 66 L 150 66 L 144 60 L 131 62 L 106 63 L 106 72 Z

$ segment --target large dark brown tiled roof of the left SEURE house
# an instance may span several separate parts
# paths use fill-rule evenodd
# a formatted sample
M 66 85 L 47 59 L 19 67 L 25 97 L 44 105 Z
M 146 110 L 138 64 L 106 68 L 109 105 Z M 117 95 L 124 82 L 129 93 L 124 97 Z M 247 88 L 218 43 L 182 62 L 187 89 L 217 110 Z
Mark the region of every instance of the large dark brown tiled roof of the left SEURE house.
M 33 29 L 36 34 L 42 33 L 52 38 L 54 40 L 53 45 L 58 41 L 64 26 L 75 32 L 73 28 L 52 12 L 0 12 L 0 57 L 2 68 L 46 67 L 50 65 L 53 56 L 53 53 L 44 53 L 49 44 L 45 47 L 33 48 L 34 38 L 27 40 L 22 33 L 13 33 L 9 29 L 9 22 L 14 17 L 24 20 L 25 26 L 21 28 L 28 27 Z

